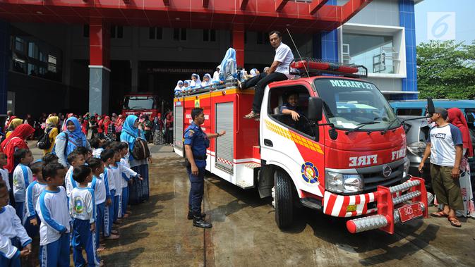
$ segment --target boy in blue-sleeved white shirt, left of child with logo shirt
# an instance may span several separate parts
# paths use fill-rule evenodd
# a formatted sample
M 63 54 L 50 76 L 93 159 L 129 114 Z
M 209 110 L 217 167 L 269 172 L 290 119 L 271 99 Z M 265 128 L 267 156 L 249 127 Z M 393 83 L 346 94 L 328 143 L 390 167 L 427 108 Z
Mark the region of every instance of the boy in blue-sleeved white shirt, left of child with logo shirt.
M 66 169 L 61 163 L 44 166 L 47 187 L 40 194 L 36 211 L 40 225 L 40 266 L 69 266 L 69 234 L 71 232 L 66 191 L 63 185 Z

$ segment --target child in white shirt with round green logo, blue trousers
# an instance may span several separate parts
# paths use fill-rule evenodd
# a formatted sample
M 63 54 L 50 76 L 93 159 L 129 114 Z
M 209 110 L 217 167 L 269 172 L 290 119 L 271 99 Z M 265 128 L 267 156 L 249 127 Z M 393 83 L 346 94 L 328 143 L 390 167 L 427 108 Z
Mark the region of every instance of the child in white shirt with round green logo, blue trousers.
M 88 187 L 88 182 L 92 181 L 92 170 L 86 165 L 78 166 L 73 170 L 73 178 L 78 182 L 69 197 L 69 215 L 73 219 L 74 266 L 85 266 L 83 249 L 88 258 L 88 266 L 100 266 L 95 242 L 97 229 L 94 190 Z

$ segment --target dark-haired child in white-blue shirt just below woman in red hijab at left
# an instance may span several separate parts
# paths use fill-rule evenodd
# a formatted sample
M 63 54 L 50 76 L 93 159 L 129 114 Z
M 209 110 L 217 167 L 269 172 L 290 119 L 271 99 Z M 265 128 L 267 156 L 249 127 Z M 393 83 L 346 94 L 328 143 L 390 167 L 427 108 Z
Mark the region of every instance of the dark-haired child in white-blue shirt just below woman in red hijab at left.
M 18 165 L 13 170 L 13 197 L 15 197 L 15 210 L 16 215 L 23 223 L 25 218 L 25 195 L 26 188 L 33 182 L 33 173 L 30 170 L 30 163 L 33 161 L 31 151 L 28 149 L 18 149 L 13 154 L 15 162 Z

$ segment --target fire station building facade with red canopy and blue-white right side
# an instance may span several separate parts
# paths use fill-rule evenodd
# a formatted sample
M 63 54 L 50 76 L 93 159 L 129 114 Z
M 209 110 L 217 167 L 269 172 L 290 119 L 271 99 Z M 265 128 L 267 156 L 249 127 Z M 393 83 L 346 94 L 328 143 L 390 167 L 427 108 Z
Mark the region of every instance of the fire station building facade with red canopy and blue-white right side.
M 128 92 L 157 94 L 167 109 L 176 81 L 212 74 L 229 47 L 247 70 L 270 66 L 267 32 L 274 29 L 295 57 L 361 64 L 388 99 L 414 99 L 414 4 L 6 0 L 0 3 L 0 113 L 118 112 Z

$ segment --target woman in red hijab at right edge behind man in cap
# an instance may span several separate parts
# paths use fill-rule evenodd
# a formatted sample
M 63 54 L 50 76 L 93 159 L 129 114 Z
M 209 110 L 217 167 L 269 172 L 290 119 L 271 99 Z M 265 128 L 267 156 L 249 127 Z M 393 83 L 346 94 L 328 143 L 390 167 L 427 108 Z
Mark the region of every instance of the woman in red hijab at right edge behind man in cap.
M 470 166 L 469 157 L 474 156 L 474 148 L 471 144 L 471 137 L 469 132 L 469 126 L 467 120 L 459 108 L 450 108 L 449 123 L 457 126 L 460 132 L 462 132 L 462 140 L 464 142 L 464 151 L 462 157 L 462 163 L 460 163 L 460 190 L 462 191 L 462 199 L 464 200 L 464 217 L 475 218 L 475 206 L 474 206 L 474 194 L 471 190 L 470 183 Z

